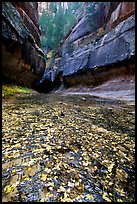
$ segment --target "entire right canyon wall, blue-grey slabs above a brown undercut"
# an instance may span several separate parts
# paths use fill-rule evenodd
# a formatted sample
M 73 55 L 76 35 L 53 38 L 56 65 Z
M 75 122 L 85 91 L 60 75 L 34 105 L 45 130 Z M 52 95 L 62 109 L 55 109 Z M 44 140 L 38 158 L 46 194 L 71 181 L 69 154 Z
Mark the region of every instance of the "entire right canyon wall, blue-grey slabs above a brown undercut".
M 94 32 L 85 14 L 68 32 L 59 63 L 52 62 L 45 79 L 57 80 L 61 75 L 66 86 L 94 86 L 120 74 L 134 74 L 134 2 L 106 2 L 100 8 L 102 20 L 98 16 Z

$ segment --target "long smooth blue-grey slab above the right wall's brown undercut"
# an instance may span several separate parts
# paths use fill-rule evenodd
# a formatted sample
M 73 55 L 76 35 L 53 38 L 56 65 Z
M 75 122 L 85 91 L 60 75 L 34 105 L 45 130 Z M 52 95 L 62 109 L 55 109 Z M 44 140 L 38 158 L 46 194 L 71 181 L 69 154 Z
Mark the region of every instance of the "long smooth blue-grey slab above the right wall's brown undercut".
M 80 49 L 79 53 L 73 53 L 73 57 L 64 55 L 60 63 L 62 75 L 76 74 L 80 70 L 84 71 L 85 67 L 86 70 L 95 67 L 101 69 L 103 66 L 130 59 L 135 52 L 134 23 L 135 19 L 132 16 L 100 38 L 91 50 L 84 51 L 84 48 Z M 127 39 L 130 39 L 130 41 L 127 41 Z

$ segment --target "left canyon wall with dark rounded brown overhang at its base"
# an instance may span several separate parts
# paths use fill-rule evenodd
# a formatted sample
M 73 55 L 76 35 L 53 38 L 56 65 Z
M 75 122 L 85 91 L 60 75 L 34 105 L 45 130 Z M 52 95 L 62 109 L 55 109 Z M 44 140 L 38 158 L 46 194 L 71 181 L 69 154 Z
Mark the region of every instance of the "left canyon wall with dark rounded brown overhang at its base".
M 28 87 L 45 70 L 36 2 L 2 3 L 2 75 Z

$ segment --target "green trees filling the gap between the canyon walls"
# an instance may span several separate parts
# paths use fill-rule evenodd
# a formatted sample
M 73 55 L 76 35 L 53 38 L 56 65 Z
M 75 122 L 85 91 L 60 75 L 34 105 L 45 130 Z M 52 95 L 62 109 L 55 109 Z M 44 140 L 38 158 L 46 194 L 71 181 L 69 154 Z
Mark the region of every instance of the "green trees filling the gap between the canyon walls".
M 50 2 L 50 11 L 43 10 L 39 19 L 44 50 L 57 49 L 68 30 L 76 23 L 75 12 L 82 11 L 82 2 L 67 2 L 67 9 L 61 3 L 57 7 L 56 2 Z

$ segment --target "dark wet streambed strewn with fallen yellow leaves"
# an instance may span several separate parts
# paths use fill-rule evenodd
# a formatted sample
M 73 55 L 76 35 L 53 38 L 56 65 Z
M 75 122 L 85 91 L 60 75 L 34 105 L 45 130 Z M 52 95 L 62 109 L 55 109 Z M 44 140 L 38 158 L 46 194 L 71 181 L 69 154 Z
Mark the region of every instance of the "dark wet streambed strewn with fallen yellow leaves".
M 2 201 L 135 201 L 134 106 L 89 95 L 2 103 Z

